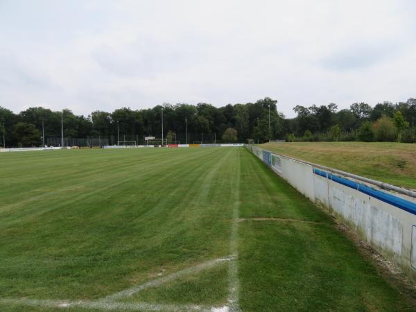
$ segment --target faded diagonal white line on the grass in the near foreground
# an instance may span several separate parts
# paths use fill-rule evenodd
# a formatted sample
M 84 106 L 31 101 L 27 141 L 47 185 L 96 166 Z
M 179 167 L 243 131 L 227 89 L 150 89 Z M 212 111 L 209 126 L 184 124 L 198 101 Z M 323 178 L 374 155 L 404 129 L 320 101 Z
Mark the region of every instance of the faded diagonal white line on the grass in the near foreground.
M 119 300 L 123 297 L 130 297 L 131 295 L 134 295 L 135 293 L 138 293 L 139 291 L 143 291 L 144 289 L 151 288 L 151 287 L 157 287 L 164 283 L 167 283 L 168 281 L 173 281 L 174 279 L 177 279 L 178 277 L 182 277 L 184 275 L 189 275 L 192 273 L 199 272 L 201 270 L 207 270 L 209 268 L 213 268 L 214 266 L 218 266 L 218 264 L 223 263 L 224 261 L 231 261 L 234 257 L 225 257 L 225 258 L 218 258 L 214 260 L 209 260 L 204 263 L 200 263 L 196 266 L 192 266 L 191 268 L 186 268 L 184 270 L 177 271 L 175 273 L 172 273 L 171 275 L 167 275 L 165 277 L 160 277 L 157 279 L 153 279 L 152 281 L 148 281 L 147 283 L 133 286 L 131 288 L 127 288 L 123 291 L 119 291 L 118 293 L 114 293 L 112 295 L 109 295 L 105 297 L 103 300 L 105 301 L 112 301 L 112 300 Z M 235 261 L 231 261 L 235 262 Z

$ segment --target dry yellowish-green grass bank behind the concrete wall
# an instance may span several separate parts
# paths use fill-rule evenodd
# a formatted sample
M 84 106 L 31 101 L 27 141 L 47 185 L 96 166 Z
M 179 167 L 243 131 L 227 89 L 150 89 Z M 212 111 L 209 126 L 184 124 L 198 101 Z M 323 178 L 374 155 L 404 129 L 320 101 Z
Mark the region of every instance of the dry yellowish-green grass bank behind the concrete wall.
M 261 147 L 398 187 L 416 189 L 416 144 L 296 142 L 266 143 Z

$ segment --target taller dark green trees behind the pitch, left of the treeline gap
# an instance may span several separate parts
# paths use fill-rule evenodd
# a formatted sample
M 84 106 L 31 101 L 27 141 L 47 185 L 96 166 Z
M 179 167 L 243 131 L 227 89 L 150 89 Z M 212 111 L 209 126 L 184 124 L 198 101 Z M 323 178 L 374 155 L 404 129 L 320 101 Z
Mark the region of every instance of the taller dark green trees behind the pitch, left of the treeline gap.
M 0 107 L 0 133 L 6 132 L 6 146 L 40 146 L 42 122 L 47 144 L 48 138 L 61 137 L 62 118 L 65 139 L 99 136 L 107 139 L 109 144 L 116 144 L 119 132 L 120 141 L 137 140 L 143 144 L 145 136 L 162 137 L 162 110 L 164 137 L 168 137 L 169 141 L 185 143 L 186 132 L 191 142 L 204 140 L 207 143 L 214 139 L 221 141 L 223 135 L 225 141 L 241 142 L 247 141 L 253 134 L 257 137 L 261 134 L 261 140 L 268 140 L 269 135 L 284 135 L 283 118 L 277 114 L 277 101 L 271 98 L 224 107 L 208 103 L 165 103 L 145 110 L 122 107 L 114 112 L 92 112 L 89 116 L 76 115 L 70 110 L 53 112 L 44 107 L 30 107 L 14 114 Z M 60 141 L 55 142 L 58 145 Z

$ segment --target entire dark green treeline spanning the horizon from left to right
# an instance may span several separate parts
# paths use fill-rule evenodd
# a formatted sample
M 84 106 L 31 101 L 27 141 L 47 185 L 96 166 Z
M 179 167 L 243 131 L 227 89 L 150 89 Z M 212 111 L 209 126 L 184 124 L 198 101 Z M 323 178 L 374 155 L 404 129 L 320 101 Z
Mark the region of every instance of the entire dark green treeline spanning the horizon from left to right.
M 19 114 L 0 107 L 0 141 L 3 146 L 40 146 L 42 125 L 45 143 L 49 138 L 100 137 L 108 144 L 120 140 L 143 143 L 145 136 L 164 137 L 185 142 L 185 132 L 192 141 L 240 141 L 269 139 L 288 141 L 416 141 L 416 99 L 400 103 L 379 103 L 374 107 L 354 103 L 339 110 L 336 104 L 296 106 L 297 117 L 286 119 L 277 112 L 277 101 L 263 98 L 255 103 L 214 107 L 208 103 L 157 105 L 145 110 L 122 107 L 114 112 L 96 111 L 89 116 L 70 110 L 54 112 L 44 107 L 30 107 Z M 162 114 L 163 112 L 163 114 Z M 101 141 L 101 142 L 103 142 Z M 58 142 L 58 141 L 57 141 Z M 85 141 L 89 144 L 88 140 Z M 66 143 L 68 144 L 68 143 Z

